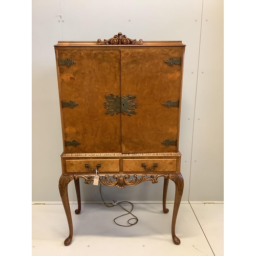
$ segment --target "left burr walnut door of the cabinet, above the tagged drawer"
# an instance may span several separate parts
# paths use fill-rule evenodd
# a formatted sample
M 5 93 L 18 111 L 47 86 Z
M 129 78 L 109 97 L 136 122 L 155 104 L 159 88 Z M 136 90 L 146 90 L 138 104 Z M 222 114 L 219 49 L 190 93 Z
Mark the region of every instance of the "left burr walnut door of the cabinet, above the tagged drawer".
M 62 103 L 61 115 L 65 153 L 120 152 L 120 114 L 110 116 L 104 108 L 105 95 L 120 95 L 120 51 L 58 50 L 57 54 L 60 60 L 75 61 L 70 67 L 59 66 L 60 98 L 68 102 Z

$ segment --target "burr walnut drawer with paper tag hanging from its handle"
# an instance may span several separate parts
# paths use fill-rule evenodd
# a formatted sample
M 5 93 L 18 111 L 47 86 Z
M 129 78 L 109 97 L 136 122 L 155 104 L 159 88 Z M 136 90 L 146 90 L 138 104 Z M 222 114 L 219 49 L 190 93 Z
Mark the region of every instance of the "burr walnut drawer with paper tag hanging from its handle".
M 86 167 L 86 164 L 89 165 L 89 168 Z M 97 168 L 97 164 L 100 164 L 100 167 Z M 88 173 L 92 172 L 95 174 L 96 169 L 99 173 L 113 173 L 119 172 L 119 159 L 96 159 L 96 160 L 66 160 L 66 170 L 67 173 Z

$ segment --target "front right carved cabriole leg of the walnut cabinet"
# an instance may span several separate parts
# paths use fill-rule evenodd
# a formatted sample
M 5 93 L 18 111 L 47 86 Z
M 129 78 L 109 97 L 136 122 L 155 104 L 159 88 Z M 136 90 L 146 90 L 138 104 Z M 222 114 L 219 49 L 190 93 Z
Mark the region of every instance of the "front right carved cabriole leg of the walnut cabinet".
M 184 188 L 184 180 L 182 175 L 179 174 L 170 174 L 169 179 L 174 181 L 175 183 L 175 200 L 174 200 L 174 211 L 173 211 L 173 220 L 172 220 L 172 237 L 173 241 L 175 244 L 180 244 L 180 239 L 177 238 L 175 234 L 175 225 L 176 225 L 176 220 L 177 220 L 177 215 L 178 215 L 178 210 L 180 207 L 180 202 L 181 202 L 181 197 L 183 193 L 183 188 Z

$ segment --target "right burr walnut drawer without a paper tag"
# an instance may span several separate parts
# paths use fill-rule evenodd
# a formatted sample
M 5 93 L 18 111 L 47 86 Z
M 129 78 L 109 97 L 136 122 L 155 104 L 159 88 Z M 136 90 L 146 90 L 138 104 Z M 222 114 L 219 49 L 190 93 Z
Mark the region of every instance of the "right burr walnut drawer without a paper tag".
M 157 166 L 154 167 L 154 164 Z M 173 173 L 176 172 L 176 159 L 124 159 L 123 172 Z

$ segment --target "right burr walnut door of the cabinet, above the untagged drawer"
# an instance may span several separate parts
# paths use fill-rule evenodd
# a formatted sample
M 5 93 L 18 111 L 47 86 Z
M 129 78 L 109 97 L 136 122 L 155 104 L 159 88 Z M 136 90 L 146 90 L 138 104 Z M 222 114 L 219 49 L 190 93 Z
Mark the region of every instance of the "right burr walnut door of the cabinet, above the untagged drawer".
M 180 109 L 168 101 L 181 100 L 182 66 L 165 61 L 182 56 L 181 47 L 121 50 L 121 96 L 136 96 L 136 114 L 121 115 L 122 153 L 178 151 Z

